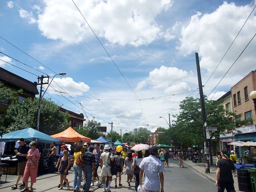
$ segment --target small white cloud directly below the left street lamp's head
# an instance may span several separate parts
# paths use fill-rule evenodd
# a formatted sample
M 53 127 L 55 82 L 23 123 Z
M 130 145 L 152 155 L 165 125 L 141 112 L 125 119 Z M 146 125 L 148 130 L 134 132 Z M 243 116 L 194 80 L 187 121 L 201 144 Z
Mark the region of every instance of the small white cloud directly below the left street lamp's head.
M 63 89 L 61 89 L 57 84 Z M 44 88 L 46 88 L 47 86 L 48 84 L 44 85 Z M 66 78 L 55 77 L 52 83 L 50 84 L 50 86 L 56 89 L 57 91 L 67 92 L 69 94 L 74 94 L 79 96 L 82 96 L 84 92 L 88 92 L 90 89 L 90 87 L 86 85 L 84 82 L 75 82 L 70 77 L 66 77 Z M 64 96 L 70 97 L 68 94 L 64 94 Z

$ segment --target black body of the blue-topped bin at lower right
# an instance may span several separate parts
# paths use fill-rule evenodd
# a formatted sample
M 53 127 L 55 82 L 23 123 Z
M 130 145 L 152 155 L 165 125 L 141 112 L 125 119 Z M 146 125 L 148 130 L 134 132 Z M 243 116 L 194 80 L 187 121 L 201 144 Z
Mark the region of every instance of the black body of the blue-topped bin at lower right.
M 237 169 L 238 189 L 240 191 L 251 192 L 252 186 L 248 169 Z

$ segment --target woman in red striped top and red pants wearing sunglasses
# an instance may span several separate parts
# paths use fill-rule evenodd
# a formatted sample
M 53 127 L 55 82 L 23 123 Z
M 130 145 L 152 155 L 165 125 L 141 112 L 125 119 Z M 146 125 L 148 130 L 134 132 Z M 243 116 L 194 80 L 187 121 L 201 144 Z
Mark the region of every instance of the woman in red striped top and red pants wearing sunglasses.
M 27 155 L 27 163 L 22 178 L 22 182 L 25 183 L 25 188 L 20 192 L 31 192 L 33 191 L 33 184 L 36 182 L 37 170 L 38 170 L 38 160 L 40 159 L 39 150 L 36 148 L 36 142 L 32 141 L 29 146 Z M 30 177 L 30 188 L 28 188 L 28 178 Z

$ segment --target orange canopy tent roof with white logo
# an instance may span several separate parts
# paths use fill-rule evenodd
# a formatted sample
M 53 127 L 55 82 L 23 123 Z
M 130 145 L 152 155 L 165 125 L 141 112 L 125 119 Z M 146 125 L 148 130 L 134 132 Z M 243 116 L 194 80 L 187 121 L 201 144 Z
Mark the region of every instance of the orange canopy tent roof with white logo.
M 91 142 L 91 138 L 80 135 L 72 127 L 69 127 L 63 132 L 51 136 L 63 142 L 77 142 L 79 140 L 82 140 L 83 142 Z

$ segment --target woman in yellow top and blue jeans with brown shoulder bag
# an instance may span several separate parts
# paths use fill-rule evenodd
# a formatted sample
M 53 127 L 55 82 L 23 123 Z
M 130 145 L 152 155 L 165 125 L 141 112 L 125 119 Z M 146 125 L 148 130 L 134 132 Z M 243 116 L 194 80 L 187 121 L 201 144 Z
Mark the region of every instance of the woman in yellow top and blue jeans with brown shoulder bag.
M 76 192 L 80 192 L 80 185 L 81 185 L 81 179 L 82 179 L 82 166 L 78 163 L 84 162 L 82 159 L 82 152 L 81 152 L 82 146 L 76 146 L 74 149 L 74 186 L 73 190 L 76 190 Z

